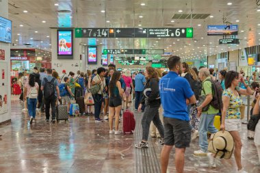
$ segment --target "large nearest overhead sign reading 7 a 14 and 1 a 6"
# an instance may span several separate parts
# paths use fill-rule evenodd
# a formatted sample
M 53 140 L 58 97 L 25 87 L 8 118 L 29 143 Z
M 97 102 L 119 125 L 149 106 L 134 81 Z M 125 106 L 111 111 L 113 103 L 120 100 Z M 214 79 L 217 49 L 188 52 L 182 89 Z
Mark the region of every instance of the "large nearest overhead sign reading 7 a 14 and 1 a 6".
M 193 38 L 193 28 L 75 28 L 75 38 Z

